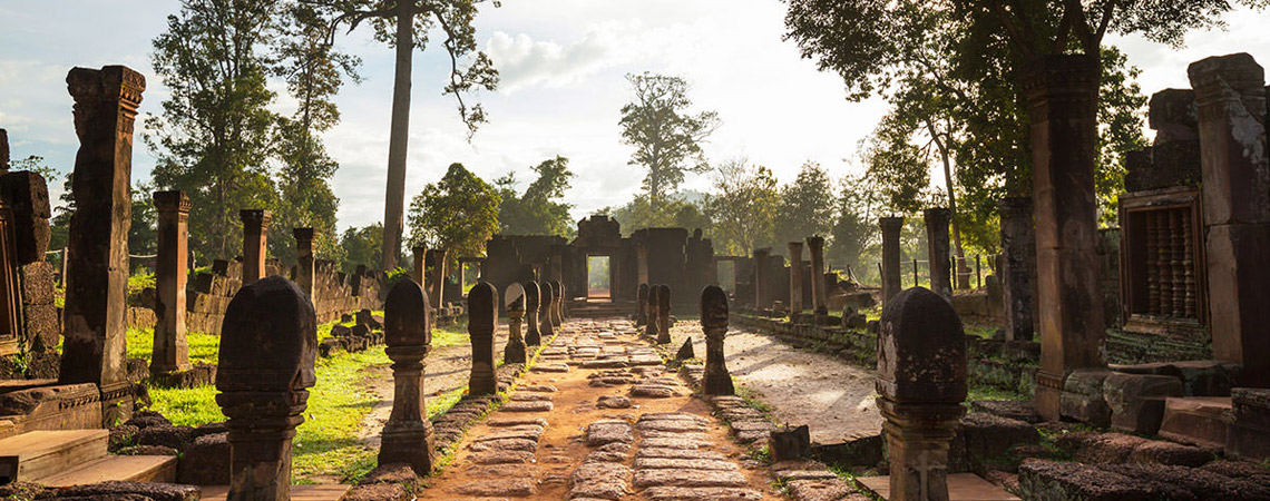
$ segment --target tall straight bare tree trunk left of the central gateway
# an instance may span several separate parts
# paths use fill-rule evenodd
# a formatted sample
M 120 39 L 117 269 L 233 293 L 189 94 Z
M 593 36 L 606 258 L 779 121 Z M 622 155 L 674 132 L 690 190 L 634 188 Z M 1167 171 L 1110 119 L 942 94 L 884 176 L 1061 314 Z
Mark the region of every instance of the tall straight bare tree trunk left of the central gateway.
M 414 3 L 398 3 L 396 76 L 392 84 L 392 126 L 389 133 L 389 185 L 384 195 L 384 255 L 380 268 L 396 268 L 405 217 L 405 155 L 410 129 L 410 58 L 414 55 Z

